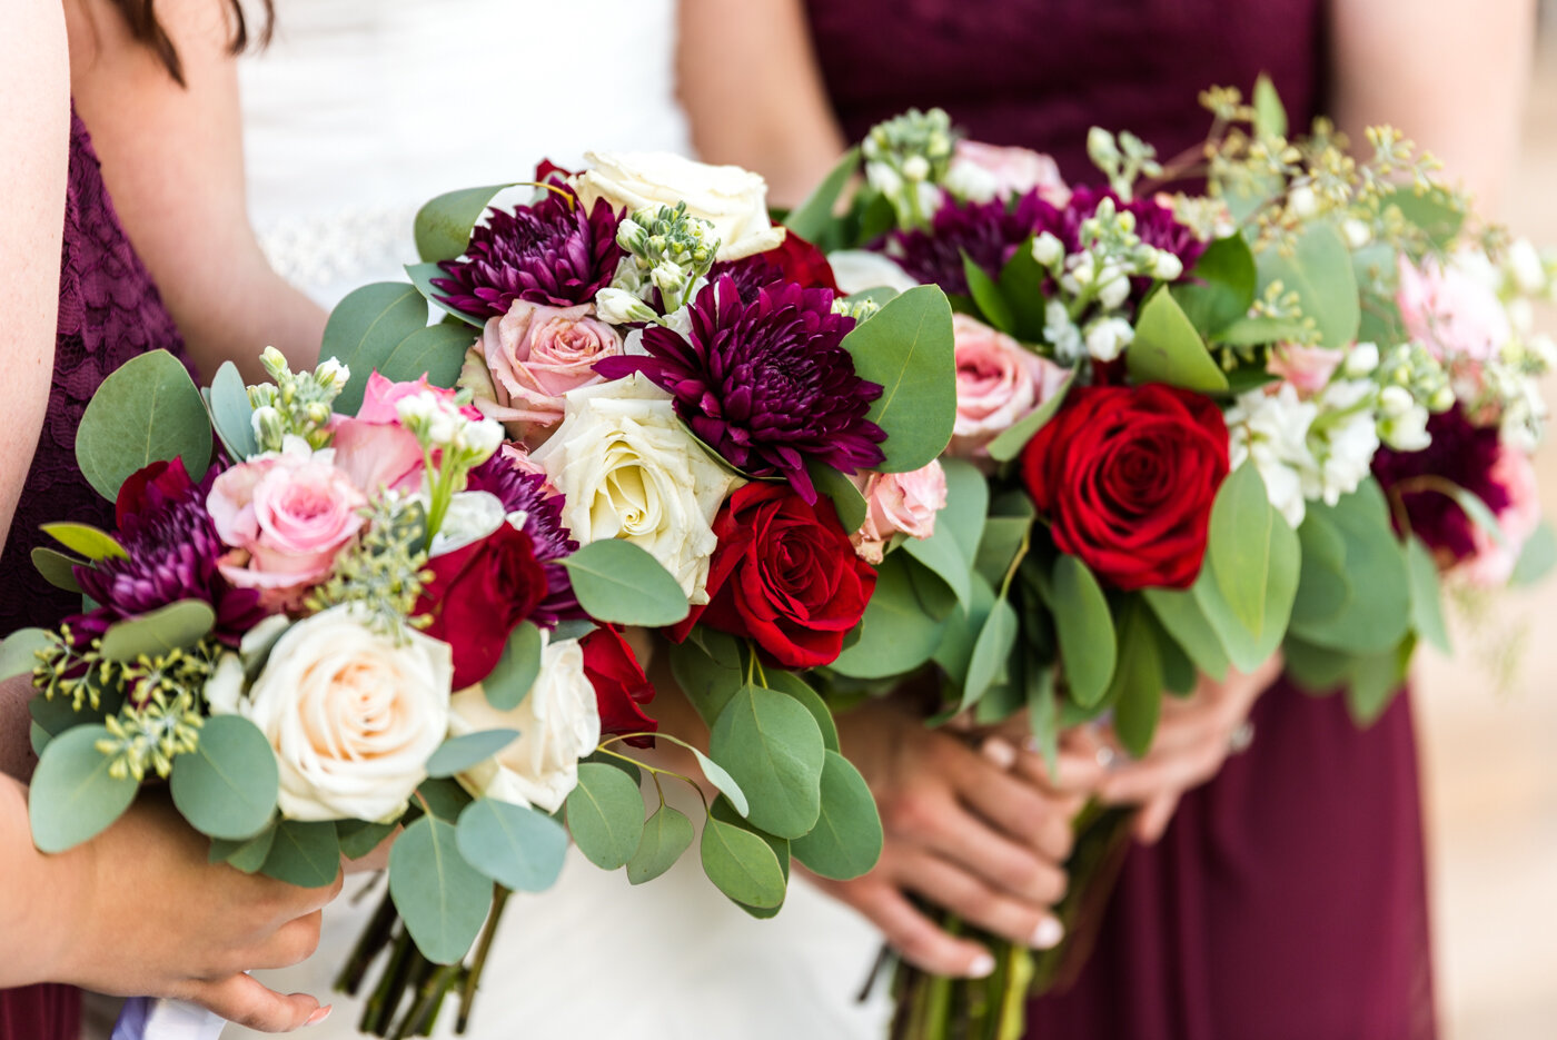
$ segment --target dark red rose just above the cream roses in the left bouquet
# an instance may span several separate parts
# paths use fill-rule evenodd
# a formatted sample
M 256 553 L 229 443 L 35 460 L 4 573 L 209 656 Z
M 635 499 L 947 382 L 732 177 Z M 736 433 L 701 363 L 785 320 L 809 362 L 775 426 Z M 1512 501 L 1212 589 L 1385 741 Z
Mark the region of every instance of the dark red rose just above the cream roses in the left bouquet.
M 455 690 L 472 687 L 497 668 L 508 637 L 547 595 L 547 571 L 523 531 L 504 523 L 497 531 L 434 556 L 433 581 L 422 589 L 417 613 L 433 623 L 425 632 L 455 652 Z

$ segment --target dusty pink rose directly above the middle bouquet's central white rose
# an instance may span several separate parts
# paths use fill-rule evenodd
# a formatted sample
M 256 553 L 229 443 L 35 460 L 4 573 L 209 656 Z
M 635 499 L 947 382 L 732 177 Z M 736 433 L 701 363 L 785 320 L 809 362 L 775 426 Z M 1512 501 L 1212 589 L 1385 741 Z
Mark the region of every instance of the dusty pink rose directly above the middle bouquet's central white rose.
M 523 423 L 554 427 L 562 422 L 562 397 L 604 378 L 595 363 L 621 353 L 621 336 L 596 319 L 590 304 L 542 307 L 515 300 L 501 318 L 490 318 L 472 347 L 490 374 L 476 388 L 476 405 L 515 434 Z M 490 391 L 490 395 L 486 395 Z M 512 423 L 522 423 L 514 428 Z

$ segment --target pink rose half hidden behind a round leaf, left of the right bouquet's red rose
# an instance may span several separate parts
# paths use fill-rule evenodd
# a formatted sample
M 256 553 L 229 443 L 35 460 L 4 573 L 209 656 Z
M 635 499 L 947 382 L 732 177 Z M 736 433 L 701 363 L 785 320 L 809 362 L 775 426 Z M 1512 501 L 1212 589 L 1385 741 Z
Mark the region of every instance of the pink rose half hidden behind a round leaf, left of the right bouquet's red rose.
M 951 316 L 958 360 L 958 420 L 950 455 L 984 458 L 984 445 L 1048 400 L 1068 372 L 1003 332 Z

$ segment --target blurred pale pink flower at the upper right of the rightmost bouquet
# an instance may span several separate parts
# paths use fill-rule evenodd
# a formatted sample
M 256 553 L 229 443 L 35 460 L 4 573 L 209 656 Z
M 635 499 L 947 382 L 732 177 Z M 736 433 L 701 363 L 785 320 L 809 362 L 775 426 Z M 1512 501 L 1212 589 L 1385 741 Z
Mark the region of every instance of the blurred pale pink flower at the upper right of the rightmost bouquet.
M 1487 280 L 1476 277 L 1474 255 L 1459 255 L 1443 268 L 1428 260 L 1422 268 L 1400 258 L 1395 304 L 1406 335 L 1422 343 L 1450 369 L 1457 361 L 1487 361 L 1513 335 L 1509 313 Z

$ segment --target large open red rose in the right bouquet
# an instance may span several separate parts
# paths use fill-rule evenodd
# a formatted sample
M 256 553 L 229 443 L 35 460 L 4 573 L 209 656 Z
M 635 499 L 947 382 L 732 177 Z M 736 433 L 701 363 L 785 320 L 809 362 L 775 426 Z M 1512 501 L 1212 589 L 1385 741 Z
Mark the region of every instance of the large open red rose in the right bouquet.
M 1090 386 L 1032 437 L 1021 475 L 1062 553 L 1118 589 L 1186 589 L 1227 476 L 1227 423 L 1190 391 Z

